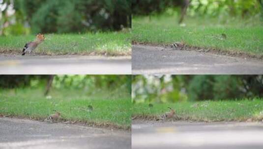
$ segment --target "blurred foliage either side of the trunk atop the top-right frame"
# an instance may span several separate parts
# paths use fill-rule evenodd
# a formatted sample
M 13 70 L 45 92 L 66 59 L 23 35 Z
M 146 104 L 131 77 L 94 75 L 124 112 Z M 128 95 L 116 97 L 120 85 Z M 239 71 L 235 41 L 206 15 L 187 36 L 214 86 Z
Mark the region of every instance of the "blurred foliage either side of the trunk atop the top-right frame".
M 180 1 L 180 2 L 178 2 Z M 132 0 L 133 15 L 158 14 L 177 10 L 178 3 L 185 0 Z M 262 0 L 190 0 L 188 14 L 191 16 L 231 15 L 249 17 L 263 10 Z

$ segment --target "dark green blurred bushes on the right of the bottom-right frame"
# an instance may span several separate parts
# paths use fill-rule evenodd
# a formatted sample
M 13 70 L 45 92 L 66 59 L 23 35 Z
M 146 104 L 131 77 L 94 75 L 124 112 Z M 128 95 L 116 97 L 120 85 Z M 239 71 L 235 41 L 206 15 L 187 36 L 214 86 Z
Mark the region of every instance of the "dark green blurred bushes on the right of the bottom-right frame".
M 187 88 L 192 100 L 263 97 L 263 76 L 196 75 Z

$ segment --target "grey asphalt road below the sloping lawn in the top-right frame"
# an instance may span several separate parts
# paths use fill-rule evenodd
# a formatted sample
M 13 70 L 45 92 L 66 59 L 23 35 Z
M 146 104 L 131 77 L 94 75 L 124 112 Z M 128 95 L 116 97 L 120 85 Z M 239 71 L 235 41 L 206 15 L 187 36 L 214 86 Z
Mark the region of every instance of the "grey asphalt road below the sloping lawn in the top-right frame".
M 132 74 L 263 74 L 263 61 L 133 45 Z

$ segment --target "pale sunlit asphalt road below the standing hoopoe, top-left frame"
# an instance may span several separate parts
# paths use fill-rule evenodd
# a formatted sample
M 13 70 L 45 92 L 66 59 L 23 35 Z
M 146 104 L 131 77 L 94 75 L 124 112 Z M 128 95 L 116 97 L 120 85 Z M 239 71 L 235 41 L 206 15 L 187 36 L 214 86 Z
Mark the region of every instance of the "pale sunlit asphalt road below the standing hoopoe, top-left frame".
M 131 74 L 131 57 L 105 56 L 4 56 L 0 74 Z

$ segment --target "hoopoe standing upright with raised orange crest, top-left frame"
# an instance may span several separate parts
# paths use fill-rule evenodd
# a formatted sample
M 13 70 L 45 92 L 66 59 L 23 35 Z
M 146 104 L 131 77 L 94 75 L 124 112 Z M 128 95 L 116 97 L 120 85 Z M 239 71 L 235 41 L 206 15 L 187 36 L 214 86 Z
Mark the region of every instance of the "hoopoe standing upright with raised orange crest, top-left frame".
M 25 45 L 25 47 L 23 48 L 23 51 L 22 51 L 22 55 L 25 55 L 26 52 L 29 52 L 29 54 L 31 54 L 31 52 L 33 50 L 36 49 L 36 47 L 42 43 L 43 41 L 45 40 L 45 36 L 43 34 L 37 34 L 36 35 L 36 40 L 35 41 L 32 41 L 32 42 L 29 42 Z

